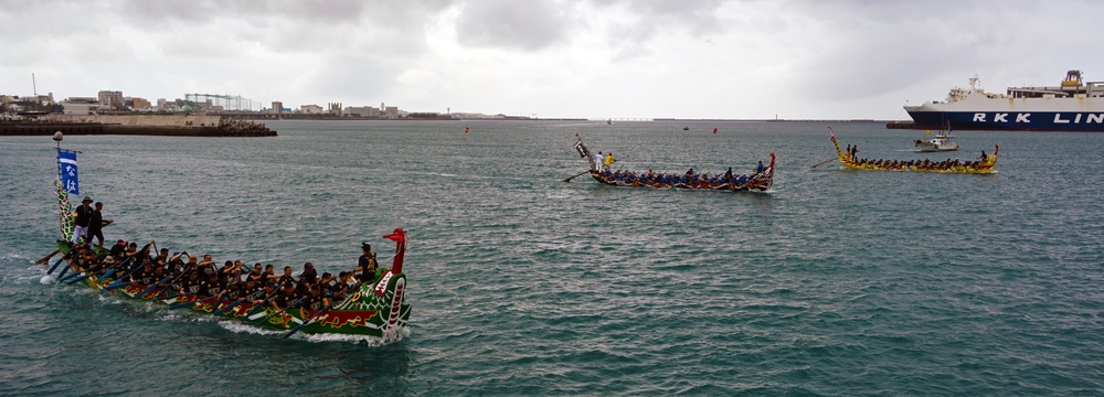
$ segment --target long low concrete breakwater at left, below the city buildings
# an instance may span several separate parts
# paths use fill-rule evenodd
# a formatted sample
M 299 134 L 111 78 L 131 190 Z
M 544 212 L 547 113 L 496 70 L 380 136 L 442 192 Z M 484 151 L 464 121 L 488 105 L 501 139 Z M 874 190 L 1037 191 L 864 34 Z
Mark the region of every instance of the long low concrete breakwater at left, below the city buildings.
M 206 115 L 50 115 L 0 122 L 0 136 L 145 135 L 169 137 L 275 137 L 263 124 Z

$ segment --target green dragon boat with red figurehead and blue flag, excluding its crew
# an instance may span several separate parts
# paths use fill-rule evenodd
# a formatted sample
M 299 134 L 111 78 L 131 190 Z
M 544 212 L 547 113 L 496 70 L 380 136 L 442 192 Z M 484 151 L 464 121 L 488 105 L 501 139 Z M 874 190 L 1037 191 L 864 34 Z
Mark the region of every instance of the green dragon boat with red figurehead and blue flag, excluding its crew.
M 60 133 L 54 136 L 54 140 L 59 142 L 61 141 Z M 59 144 L 59 178 L 54 181 L 54 190 L 57 195 L 57 215 L 62 237 L 57 240 L 55 254 L 68 254 L 73 249 L 70 244 L 74 233 L 73 207 L 68 196 L 71 194 L 78 196 L 76 153 L 63 150 Z M 242 302 L 219 301 L 212 297 L 180 294 L 172 288 L 158 287 L 161 282 L 152 286 L 123 282 L 127 277 L 116 275 L 113 278 L 113 270 L 107 270 L 103 275 L 74 270 L 68 277 L 64 277 L 65 271 L 68 270 L 67 264 L 63 264 L 64 256 L 54 262 L 49 273 L 53 273 L 59 265 L 63 265 L 57 275 L 60 282 L 64 281 L 70 285 L 79 282 L 102 294 L 164 304 L 169 305 L 170 309 L 187 308 L 192 312 L 238 320 L 269 330 L 287 331 L 284 337 L 300 332 L 305 334 L 362 335 L 389 342 L 404 335 L 411 315 L 411 305 L 404 301 L 406 275 L 403 272 L 403 257 L 406 253 L 406 232 L 402 228 L 395 228 L 392 234 L 383 237 L 395 242 L 395 254 L 391 269 L 381 267 L 376 271 L 373 282 L 363 282 L 353 287 L 348 292 L 347 299 L 332 303 L 330 308 L 317 311 L 304 310 L 302 314 L 305 315 L 301 315 L 300 311 L 296 309 L 278 311 L 268 305 L 254 305 L 248 300 Z M 99 258 L 105 258 L 108 255 L 108 250 L 104 248 L 97 248 L 96 251 Z M 51 256 L 43 258 L 40 262 L 47 264 Z M 125 269 L 121 266 L 119 268 Z M 183 273 L 194 270 L 194 268 L 189 269 L 187 266 L 184 269 Z M 172 281 L 176 280 L 170 280 L 169 283 L 171 285 Z M 256 299 L 266 298 L 262 297 L 265 294 L 264 289 L 261 289 L 259 292 Z

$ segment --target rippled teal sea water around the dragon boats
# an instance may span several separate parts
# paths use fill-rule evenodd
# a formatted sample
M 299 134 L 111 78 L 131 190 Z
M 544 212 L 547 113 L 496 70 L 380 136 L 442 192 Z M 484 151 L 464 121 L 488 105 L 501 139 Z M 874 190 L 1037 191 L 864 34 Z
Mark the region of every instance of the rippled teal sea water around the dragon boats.
M 6 137 L 3 394 L 1104 394 L 1104 135 L 956 131 L 926 154 L 920 131 L 834 125 L 867 158 L 1000 146 L 997 174 L 948 175 L 811 168 L 835 157 L 822 122 L 268 126 L 64 147 L 110 240 L 337 272 L 406 228 L 405 337 L 283 340 L 56 283 L 33 265 L 57 236 L 54 142 Z M 575 135 L 640 171 L 775 152 L 775 186 L 564 183 Z

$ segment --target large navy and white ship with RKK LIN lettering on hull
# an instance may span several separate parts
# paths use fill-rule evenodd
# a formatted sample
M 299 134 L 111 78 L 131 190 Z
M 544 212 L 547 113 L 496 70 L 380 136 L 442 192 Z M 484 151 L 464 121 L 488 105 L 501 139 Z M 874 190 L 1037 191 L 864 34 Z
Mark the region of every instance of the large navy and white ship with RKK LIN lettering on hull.
M 1009 87 L 987 93 L 977 76 L 952 88 L 944 101 L 905 106 L 915 129 L 1104 132 L 1104 82 L 1070 71 L 1054 87 Z M 891 128 L 895 128 L 892 127 Z

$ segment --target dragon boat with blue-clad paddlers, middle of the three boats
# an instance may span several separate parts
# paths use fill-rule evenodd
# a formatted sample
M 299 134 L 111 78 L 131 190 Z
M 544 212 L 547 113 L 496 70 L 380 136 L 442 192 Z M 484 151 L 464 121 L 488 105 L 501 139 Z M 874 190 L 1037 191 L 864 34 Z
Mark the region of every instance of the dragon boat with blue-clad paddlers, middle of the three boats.
M 693 169 L 684 174 L 677 173 L 655 173 L 648 172 L 609 172 L 608 170 L 602 170 L 602 164 L 595 161 L 594 155 L 591 150 L 583 143 L 582 138 L 576 136 L 575 138 L 575 151 L 578 155 L 586 159 L 591 168 L 588 171 L 583 171 L 583 173 L 590 172 L 591 176 L 599 183 L 613 185 L 613 186 L 629 186 L 629 187 L 658 187 L 658 189 L 687 189 L 687 190 L 710 190 L 710 191 L 721 191 L 721 192 L 766 192 L 771 190 L 774 185 L 774 153 L 771 153 L 771 164 L 763 168 L 762 171 L 756 170 L 751 175 L 734 175 L 730 173 L 715 174 L 712 176 L 705 176 L 705 174 L 693 173 Z M 762 167 L 762 162 L 760 167 Z M 580 173 L 575 176 L 582 175 Z M 574 178 L 574 176 L 572 176 Z M 564 180 L 570 181 L 571 178 Z

